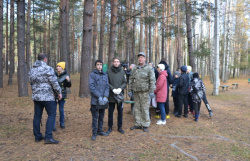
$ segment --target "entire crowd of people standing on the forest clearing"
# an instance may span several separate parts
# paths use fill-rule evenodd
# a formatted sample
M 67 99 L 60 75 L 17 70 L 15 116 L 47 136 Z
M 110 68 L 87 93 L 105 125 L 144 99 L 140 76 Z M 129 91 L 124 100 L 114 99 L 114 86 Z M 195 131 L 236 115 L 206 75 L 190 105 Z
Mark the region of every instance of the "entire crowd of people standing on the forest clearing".
M 57 144 L 52 131 L 55 131 L 56 106 L 59 104 L 60 127 L 64 124 L 64 104 L 67 97 L 66 87 L 71 86 L 69 75 L 65 70 L 65 62 L 57 64 L 57 70 L 47 64 L 47 56 L 38 55 L 29 72 L 29 81 L 32 88 L 32 100 L 34 101 L 33 133 L 35 141 L 44 139 L 45 144 Z M 134 126 L 130 130 L 142 129 L 149 131 L 151 123 L 149 107 L 154 99 L 157 102 L 155 118 L 159 118 L 157 125 L 165 125 L 169 115 L 169 88 L 172 88 L 174 112 L 176 117 L 182 116 L 184 104 L 184 117 L 188 117 L 188 107 L 193 113 L 195 121 L 198 121 L 201 101 L 203 100 L 209 115 L 212 110 L 207 102 L 205 85 L 199 79 L 198 73 L 192 73 L 190 66 L 182 66 L 174 72 L 172 77 L 166 60 L 163 58 L 155 68 L 153 63 L 146 63 L 146 55 L 138 54 L 138 64 L 131 64 L 129 69 L 123 69 L 119 57 L 113 58 L 112 66 L 104 72 L 103 62 L 95 61 L 95 69 L 89 75 L 89 90 L 91 93 L 92 137 L 96 140 L 98 135 L 108 136 L 113 131 L 113 113 L 117 108 L 117 130 L 121 134 L 125 131 L 123 125 L 123 101 L 124 89 L 128 84 L 128 96 L 134 101 Z M 45 137 L 40 133 L 40 123 L 43 108 L 45 107 L 48 119 Z M 108 130 L 103 131 L 103 119 L 105 109 L 108 109 Z

